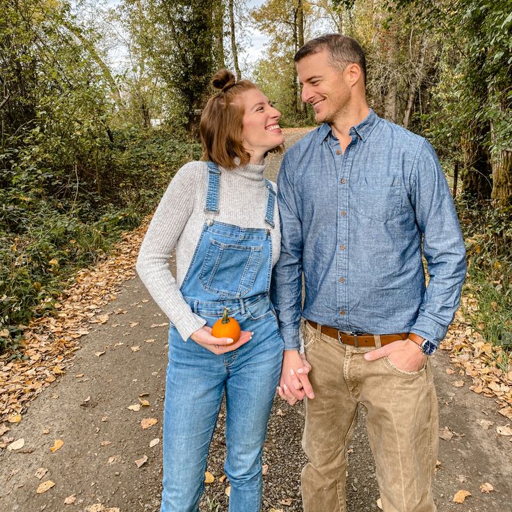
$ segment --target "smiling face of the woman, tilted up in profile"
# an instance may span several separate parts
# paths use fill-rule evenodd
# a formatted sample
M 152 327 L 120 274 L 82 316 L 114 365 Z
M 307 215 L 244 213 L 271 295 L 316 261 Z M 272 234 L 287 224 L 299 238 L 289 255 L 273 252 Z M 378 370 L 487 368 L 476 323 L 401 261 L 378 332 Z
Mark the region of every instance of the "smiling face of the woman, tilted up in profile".
M 263 163 L 266 152 L 285 142 L 279 127 L 280 111 L 259 89 L 244 91 L 237 98 L 243 106 L 242 142 L 251 163 Z

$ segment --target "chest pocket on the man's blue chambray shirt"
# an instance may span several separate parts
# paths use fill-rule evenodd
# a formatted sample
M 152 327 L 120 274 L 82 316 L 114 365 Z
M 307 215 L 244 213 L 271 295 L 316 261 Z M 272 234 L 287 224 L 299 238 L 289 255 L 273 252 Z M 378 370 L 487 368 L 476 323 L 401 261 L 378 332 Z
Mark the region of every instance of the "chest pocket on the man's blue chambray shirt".
M 400 214 L 403 194 L 400 177 L 362 177 L 351 194 L 350 205 L 358 216 L 374 221 L 389 221 Z

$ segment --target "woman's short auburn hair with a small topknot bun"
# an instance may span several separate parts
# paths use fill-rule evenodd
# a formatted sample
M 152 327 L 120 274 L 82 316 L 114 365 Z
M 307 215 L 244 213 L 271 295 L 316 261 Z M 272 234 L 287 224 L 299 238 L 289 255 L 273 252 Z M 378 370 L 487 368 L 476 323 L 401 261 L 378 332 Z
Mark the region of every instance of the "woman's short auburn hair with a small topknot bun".
M 211 96 L 202 111 L 199 123 L 201 159 L 213 161 L 226 169 L 243 166 L 250 161 L 250 153 L 242 141 L 243 104 L 236 99 L 246 90 L 257 89 L 257 86 L 249 80 L 235 81 L 228 70 L 216 72 L 211 84 L 221 92 Z M 276 151 L 281 152 L 282 147 L 275 147 L 269 152 Z

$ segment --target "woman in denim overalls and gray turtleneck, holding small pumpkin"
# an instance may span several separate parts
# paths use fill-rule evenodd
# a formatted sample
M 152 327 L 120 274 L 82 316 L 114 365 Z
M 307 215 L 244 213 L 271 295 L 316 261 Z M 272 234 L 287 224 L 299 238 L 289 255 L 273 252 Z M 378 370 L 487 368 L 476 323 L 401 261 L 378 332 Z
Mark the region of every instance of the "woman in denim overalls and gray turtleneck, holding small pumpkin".
M 257 512 L 262 447 L 283 342 L 269 300 L 280 250 L 264 157 L 284 139 L 280 113 L 250 81 L 221 70 L 200 122 L 202 161 L 183 166 L 154 214 L 137 271 L 170 321 L 163 420 L 162 512 L 196 512 L 209 444 L 226 398 L 230 512 Z M 177 276 L 168 259 L 177 252 Z M 216 338 L 224 307 L 239 341 Z

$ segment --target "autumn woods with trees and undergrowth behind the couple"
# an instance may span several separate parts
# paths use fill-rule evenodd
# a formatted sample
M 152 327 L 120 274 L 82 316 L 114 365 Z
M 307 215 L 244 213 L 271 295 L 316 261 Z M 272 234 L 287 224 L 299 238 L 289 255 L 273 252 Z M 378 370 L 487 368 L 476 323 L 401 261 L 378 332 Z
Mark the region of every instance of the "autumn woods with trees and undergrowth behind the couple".
M 216 70 L 311 125 L 293 56 L 333 31 L 364 47 L 376 113 L 458 170 L 474 325 L 512 346 L 512 0 L 0 0 L 0 352 L 198 158 Z

